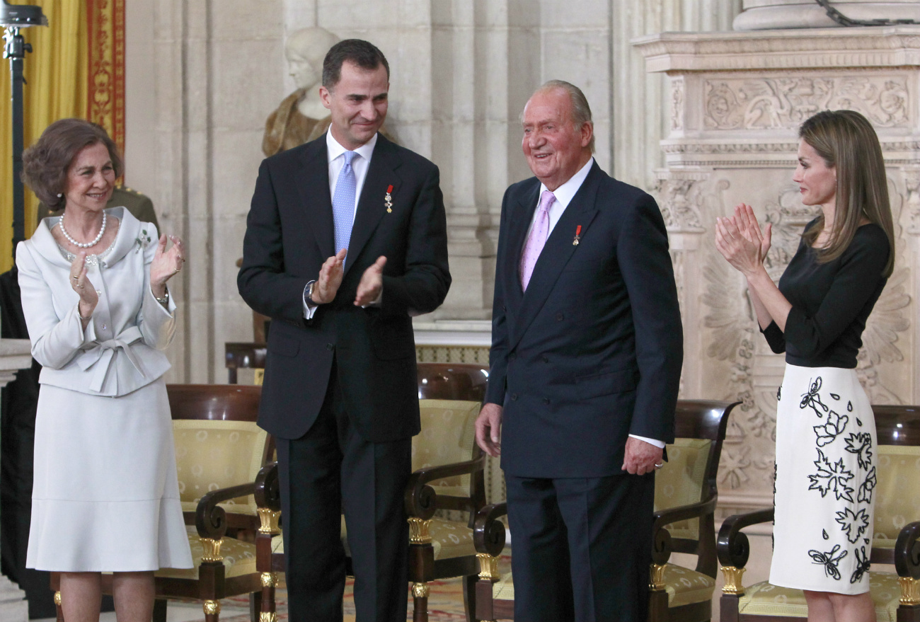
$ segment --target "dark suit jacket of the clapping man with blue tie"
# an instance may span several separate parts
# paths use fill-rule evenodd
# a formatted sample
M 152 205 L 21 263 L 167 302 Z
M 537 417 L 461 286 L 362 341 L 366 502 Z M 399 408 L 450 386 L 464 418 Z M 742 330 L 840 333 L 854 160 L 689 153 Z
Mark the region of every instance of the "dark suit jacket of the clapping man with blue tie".
M 419 432 L 410 311 L 443 302 L 451 277 L 438 168 L 377 137 L 333 302 L 304 318 L 304 287 L 335 254 L 325 134 L 263 160 L 237 277 L 247 304 L 272 318 L 259 425 L 299 438 L 316 420 L 333 356 L 351 419 L 373 443 Z M 392 212 L 385 207 L 389 186 Z M 386 257 L 379 307 L 353 305 L 363 272 Z

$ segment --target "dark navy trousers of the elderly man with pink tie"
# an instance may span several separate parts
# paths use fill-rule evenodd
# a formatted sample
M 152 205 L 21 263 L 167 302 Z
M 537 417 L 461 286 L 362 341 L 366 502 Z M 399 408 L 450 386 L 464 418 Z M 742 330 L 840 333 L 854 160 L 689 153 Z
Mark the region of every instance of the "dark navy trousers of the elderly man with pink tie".
M 654 474 L 505 479 L 514 619 L 645 622 Z

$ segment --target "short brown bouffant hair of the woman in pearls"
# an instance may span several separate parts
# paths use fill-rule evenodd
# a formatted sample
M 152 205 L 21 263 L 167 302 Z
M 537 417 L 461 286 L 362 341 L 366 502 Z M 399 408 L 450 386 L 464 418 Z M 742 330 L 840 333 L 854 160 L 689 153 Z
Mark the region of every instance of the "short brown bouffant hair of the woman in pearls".
M 39 140 L 22 153 L 22 181 L 52 211 L 63 208 L 67 190 L 67 169 L 84 147 L 105 144 L 115 178 L 121 177 L 121 154 L 101 125 L 83 119 L 54 121 Z

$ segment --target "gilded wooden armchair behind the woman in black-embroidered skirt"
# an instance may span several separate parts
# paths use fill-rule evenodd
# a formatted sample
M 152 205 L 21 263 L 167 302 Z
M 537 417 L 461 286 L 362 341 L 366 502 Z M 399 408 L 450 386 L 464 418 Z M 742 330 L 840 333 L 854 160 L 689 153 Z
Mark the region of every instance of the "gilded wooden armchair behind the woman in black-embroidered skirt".
M 897 574 L 869 570 L 878 622 L 920 622 L 920 406 L 872 406 L 879 445 L 875 535 L 869 562 L 894 564 Z M 730 516 L 717 551 L 725 587 L 722 622 L 788 622 L 808 616 L 801 590 L 760 582 L 744 587 L 751 552 L 742 529 L 773 521 L 773 509 Z

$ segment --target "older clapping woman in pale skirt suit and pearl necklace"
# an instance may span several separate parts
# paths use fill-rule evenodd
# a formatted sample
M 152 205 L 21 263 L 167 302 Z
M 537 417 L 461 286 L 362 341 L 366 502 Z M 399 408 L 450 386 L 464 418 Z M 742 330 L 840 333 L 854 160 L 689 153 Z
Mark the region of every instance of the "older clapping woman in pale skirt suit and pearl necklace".
M 105 209 L 121 158 L 98 125 L 52 123 L 23 164 L 39 198 L 64 208 L 16 255 L 43 365 L 27 566 L 62 573 L 67 620 L 98 620 L 110 571 L 119 621 L 149 622 L 154 570 L 191 566 L 163 380 L 176 323 L 167 281 L 184 249 Z

